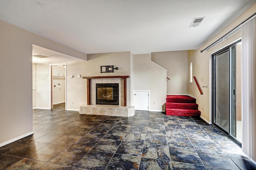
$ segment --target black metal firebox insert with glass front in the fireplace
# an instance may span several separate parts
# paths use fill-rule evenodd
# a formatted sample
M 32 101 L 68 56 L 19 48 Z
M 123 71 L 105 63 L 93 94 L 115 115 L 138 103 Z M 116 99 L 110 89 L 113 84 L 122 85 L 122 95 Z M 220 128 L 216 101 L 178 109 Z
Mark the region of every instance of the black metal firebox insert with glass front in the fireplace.
M 119 105 L 119 84 L 96 84 L 96 104 Z

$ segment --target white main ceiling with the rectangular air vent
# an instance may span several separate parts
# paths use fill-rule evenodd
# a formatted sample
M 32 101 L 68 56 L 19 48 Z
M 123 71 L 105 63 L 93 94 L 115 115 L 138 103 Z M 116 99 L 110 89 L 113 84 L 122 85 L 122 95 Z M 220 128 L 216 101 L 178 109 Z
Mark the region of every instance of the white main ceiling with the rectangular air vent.
M 146 54 L 198 49 L 254 2 L 1 0 L 0 20 L 86 54 Z M 199 17 L 200 26 L 189 27 Z

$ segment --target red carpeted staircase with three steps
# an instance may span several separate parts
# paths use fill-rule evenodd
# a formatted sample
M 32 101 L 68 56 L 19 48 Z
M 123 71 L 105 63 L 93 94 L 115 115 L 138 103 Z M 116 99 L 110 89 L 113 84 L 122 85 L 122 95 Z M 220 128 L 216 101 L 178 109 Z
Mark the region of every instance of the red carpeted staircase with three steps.
M 167 95 L 165 103 L 166 115 L 200 116 L 196 99 L 186 95 Z

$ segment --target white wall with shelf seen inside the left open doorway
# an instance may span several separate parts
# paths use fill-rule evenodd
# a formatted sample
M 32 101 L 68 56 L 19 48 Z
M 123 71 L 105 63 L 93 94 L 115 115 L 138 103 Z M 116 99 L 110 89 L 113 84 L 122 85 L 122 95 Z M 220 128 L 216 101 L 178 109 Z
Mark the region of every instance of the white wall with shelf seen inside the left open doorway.
M 65 77 L 58 77 L 58 74 L 65 76 L 65 68 L 63 65 L 52 66 L 52 104 L 60 104 L 65 102 Z M 58 87 L 58 83 L 60 87 Z

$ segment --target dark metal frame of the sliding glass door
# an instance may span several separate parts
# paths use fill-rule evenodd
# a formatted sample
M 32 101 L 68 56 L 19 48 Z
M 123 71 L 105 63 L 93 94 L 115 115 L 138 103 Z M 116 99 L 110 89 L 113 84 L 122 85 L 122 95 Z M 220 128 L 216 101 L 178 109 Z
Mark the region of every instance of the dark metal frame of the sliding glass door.
M 236 87 L 235 83 L 235 78 L 234 76 L 236 75 L 235 69 L 236 69 L 236 53 L 234 53 L 234 45 L 238 44 L 241 42 L 241 39 L 228 45 L 227 47 L 224 47 L 223 49 L 217 51 L 216 53 L 212 54 L 212 124 L 216 126 L 218 129 L 220 129 L 224 134 L 226 134 L 230 139 L 238 143 L 238 145 L 242 146 L 242 143 L 236 139 L 232 135 L 231 130 L 234 130 L 236 128 L 236 125 L 232 125 L 231 122 L 234 121 L 234 111 L 236 110 L 236 101 L 235 97 L 236 94 L 234 94 L 234 87 Z M 220 54 L 224 51 L 228 50 L 228 87 L 229 87 L 229 95 L 228 95 L 228 100 L 229 100 L 229 107 L 228 107 L 228 131 L 225 131 L 222 127 L 216 124 L 216 55 Z M 233 51 L 232 51 L 233 50 Z M 236 92 L 235 92 L 236 93 Z M 234 96 L 235 95 L 235 96 Z M 235 111 L 236 112 L 236 111 Z M 235 122 L 236 124 L 236 122 Z

